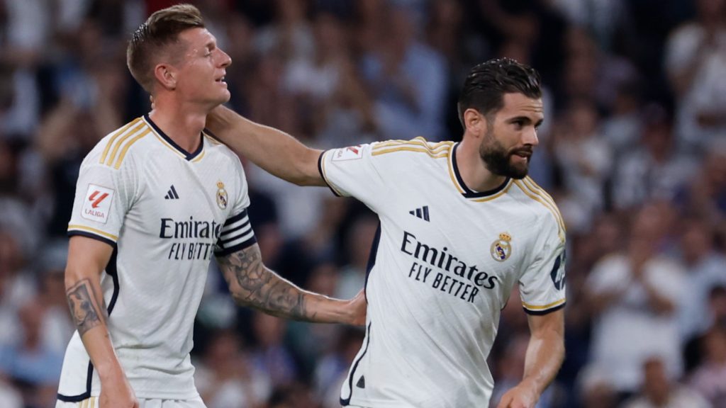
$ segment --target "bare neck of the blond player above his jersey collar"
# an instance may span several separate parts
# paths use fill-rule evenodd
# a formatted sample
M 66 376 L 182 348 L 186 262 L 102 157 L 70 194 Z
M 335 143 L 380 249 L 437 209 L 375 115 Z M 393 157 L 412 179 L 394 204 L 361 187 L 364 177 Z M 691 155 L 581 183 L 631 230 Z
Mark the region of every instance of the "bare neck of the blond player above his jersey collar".
M 199 106 L 157 98 L 149 117 L 179 147 L 195 152 L 201 142 L 199 135 L 204 129 L 207 113 L 208 110 L 201 110 Z

